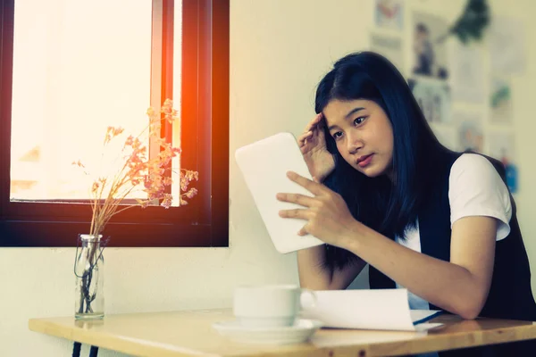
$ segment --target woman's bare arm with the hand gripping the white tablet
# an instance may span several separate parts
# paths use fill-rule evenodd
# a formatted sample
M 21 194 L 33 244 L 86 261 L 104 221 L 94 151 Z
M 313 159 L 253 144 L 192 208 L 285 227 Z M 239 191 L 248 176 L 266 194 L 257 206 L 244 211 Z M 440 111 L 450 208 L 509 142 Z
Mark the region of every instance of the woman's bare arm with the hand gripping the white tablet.
M 305 221 L 301 234 L 347 249 L 426 301 L 465 319 L 482 310 L 489 290 L 498 220 L 469 216 L 452 227 L 450 262 L 415 252 L 355 220 L 342 197 L 328 187 L 289 172 L 289 179 L 314 197 L 278 194 L 304 208 L 282 210 L 281 217 Z

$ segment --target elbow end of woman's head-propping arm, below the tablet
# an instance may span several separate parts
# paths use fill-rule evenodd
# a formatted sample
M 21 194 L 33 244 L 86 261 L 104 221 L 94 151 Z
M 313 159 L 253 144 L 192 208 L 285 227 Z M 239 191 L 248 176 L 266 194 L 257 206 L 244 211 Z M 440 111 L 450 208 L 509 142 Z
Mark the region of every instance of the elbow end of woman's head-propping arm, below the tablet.
M 297 271 L 302 287 L 312 290 L 342 290 L 354 281 L 366 262 L 356 257 L 342 268 L 332 270 L 325 264 L 326 250 L 323 245 L 297 252 Z

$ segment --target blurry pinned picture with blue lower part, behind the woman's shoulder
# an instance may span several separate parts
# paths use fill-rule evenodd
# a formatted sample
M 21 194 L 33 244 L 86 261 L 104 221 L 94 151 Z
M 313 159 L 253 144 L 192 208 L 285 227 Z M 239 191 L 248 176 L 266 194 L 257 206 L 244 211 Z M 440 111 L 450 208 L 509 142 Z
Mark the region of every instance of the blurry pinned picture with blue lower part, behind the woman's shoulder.
M 515 164 L 515 137 L 513 133 L 490 133 L 490 156 L 502 162 L 506 170 L 507 187 L 517 192 L 517 165 Z

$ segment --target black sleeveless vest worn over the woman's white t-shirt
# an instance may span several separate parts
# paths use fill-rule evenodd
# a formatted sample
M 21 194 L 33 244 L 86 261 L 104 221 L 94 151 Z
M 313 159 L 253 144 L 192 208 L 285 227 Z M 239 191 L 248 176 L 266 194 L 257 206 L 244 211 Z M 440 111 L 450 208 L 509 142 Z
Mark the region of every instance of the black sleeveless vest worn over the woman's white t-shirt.
M 418 214 L 421 252 L 446 262 L 450 261 L 451 236 L 448 178 L 450 168 L 459 156 L 460 154 L 452 154 L 440 172 L 437 172 L 437 176 L 435 176 L 437 181 L 435 187 L 437 189 L 428 195 L 429 199 L 426 203 L 423 203 Z M 486 158 L 490 160 L 500 177 L 505 181 L 505 170 L 502 163 L 490 157 Z M 490 294 L 479 316 L 536 321 L 536 303 L 534 303 L 534 298 L 532 297 L 529 260 L 523 245 L 519 224 L 517 223 L 515 202 L 512 195 L 510 195 L 510 200 L 512 203 L 510 233 L 506 238 L 496 243 Z M 393 280 L 373 268 L 373 266 L 370 266 L 369 282 L 371 288 L 376 289 L 396 287 Z M 431 303 L 430 309 L 441 310 Z M 525 343 L 525 348 L 528 348 L 528 345 Z M 505 344 L 483 349 L 472 348 L 457 350 L 457 352 L 452 353 L 440 353 L 440 355 L 464 355 L 463 351 L 471 351 L 468 355 L 473 356 L 502 355 L 499 351 L 501 346 L 507 346 L 505 351 L 513 353 L 516 348 L 522 348 L 523 344 Z M 482 354 L 484 350 L 486 352 Z M 531 353 L 536 353 L 536 349 L 532 349 Z

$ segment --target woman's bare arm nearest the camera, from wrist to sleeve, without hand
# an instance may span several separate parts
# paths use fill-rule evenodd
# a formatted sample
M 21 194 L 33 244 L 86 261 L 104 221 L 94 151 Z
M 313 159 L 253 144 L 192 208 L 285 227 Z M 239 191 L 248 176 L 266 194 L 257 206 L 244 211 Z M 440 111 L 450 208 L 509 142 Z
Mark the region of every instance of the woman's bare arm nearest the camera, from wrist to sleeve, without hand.
M 340 245 L 429 303 L 474 319 L 490 292 L 496 234 L 494 218 L 456 220 L 450 262 L 399 245 L 357 221 Z

